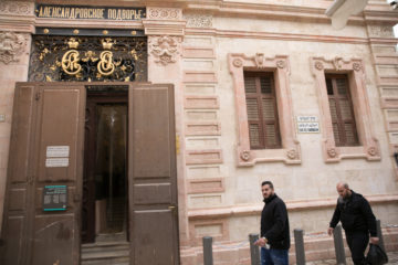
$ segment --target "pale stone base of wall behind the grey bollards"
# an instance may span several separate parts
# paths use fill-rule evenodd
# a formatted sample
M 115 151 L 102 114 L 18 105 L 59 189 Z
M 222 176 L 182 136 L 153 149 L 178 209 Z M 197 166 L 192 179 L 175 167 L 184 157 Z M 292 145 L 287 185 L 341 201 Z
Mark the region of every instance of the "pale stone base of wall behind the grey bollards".
M 387 252 L 398 251 L 398 227 L 383 229 L 383 237 Z M 336 258 L 333 237 L 325 234 L 310 234 L 304 236 L 305 261 L 321 261 Z M 346 257 L 350 253 L 345 247 Z M 292 246 L 289 253 L 289 263 L 295 264 L 295 246 L 292 237 Z M 202 265 L 203 253 L 201 247 L 182 247 L 181 265 Z M 248 242 L 222 243 L 213 242 L 213 264 L 219 265 L 250 265 L 250 246 Z

